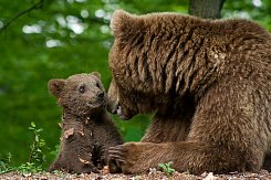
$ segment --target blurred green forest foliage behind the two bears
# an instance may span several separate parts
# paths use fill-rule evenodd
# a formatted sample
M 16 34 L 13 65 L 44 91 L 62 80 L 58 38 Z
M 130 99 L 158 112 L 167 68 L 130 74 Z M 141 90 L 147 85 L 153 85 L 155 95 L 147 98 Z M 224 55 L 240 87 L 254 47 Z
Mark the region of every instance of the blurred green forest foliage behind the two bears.
M 12 18 L 42 2 L 35 9 Z M 34 121 L 43 128 L 48 163 L 59 144 L 61 108 L 49 94 L 50 78 L 98 71 L 105 88 L 111 82 L 107 54 L 115 9 L 133 13 L 187 13 L 188 0 L 0 0 L 0 158 L 8 152 L 15 165 L 28 161 Z M 227 0 L 222 18 L 252 19 L 271 31 L 270 0 Z M 7 23 L 10 25 L 6 29 Z M 139 140 L 150 116 L 131 121 L 113 117 L 126 141 Z

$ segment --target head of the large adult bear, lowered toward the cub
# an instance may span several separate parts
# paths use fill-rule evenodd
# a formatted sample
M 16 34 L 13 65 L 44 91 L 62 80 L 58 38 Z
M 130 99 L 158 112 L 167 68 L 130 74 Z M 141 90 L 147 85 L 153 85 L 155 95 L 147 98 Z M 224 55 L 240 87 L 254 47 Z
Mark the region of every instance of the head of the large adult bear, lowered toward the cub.
M 155 34 L 147 33 L 153 27 L 145 22 L 144 17 L 153 21 L 152 15 L 134 15 L 116 10 L 111 21 L 115 40 L 108 61 L 113 80 L 107 92 L 107 109 L 118 114 L 122 119 L 152 113 L 156 110 L 157 102 L 159 105 L 164 104 L 163 98 L 155 98 L 165 92 L 165 83 L 158 80 L 160 70 L 155 70 L 156 65 L 147 60 L 153 60 L 154 56 L 146 52 L 148 39 Z M 154 15 L 154 21 L 157 21 L 156 18 Z

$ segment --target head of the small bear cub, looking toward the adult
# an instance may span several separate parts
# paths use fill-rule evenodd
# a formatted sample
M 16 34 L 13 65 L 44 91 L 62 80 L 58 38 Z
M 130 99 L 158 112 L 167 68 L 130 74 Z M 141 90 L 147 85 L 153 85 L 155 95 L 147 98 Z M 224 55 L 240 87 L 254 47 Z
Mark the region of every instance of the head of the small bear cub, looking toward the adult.
M 75 74 L 66 80 L 50 80 L 48 87 L 65 113 L 87 117 L 105 110 L 106 94 L 97 72 Z

